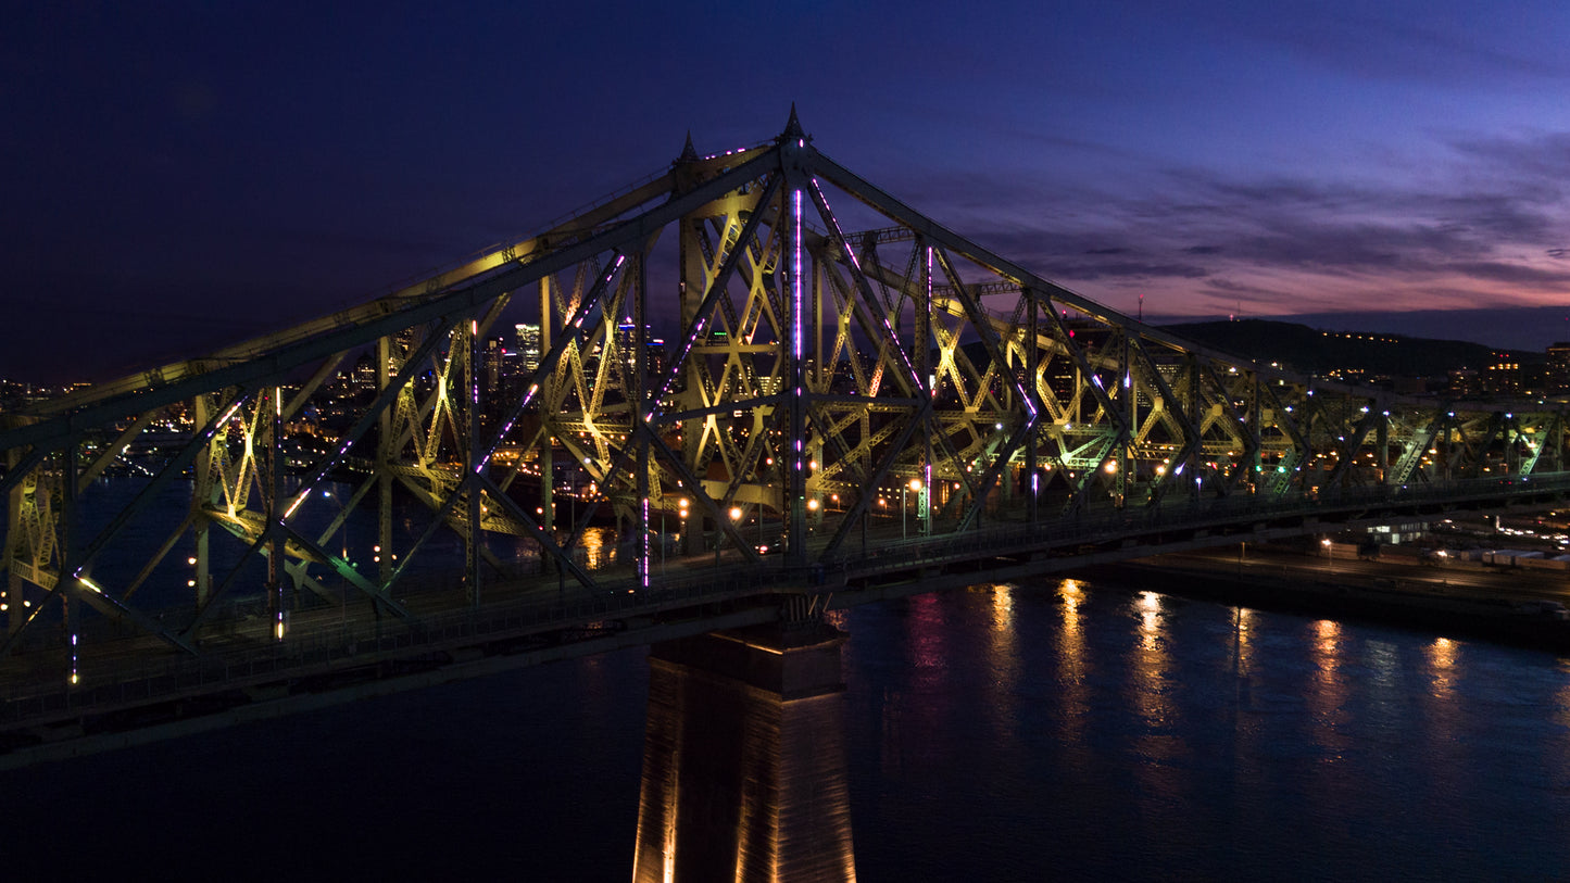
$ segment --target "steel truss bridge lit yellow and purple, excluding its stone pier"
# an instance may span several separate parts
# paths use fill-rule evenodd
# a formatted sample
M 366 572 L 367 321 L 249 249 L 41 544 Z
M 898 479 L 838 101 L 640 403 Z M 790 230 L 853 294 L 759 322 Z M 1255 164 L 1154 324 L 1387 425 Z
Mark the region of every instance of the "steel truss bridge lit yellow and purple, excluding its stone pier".
M 488 343 L 515 323 L 521 373 Z M 1562 402 L 1182 340 L 928 220 L 794 110 L 386 296 L 3 420 L 0 748 L 1570 486 Z

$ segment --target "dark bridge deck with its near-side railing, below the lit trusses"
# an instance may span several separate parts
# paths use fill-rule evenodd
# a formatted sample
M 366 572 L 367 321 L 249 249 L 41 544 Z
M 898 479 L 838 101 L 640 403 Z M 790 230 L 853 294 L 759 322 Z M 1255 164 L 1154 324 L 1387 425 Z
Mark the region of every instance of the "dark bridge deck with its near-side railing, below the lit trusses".
M 853 540 L 857 549 L 805 568 L 782 557 L 746 565 L 733 552 L 730 560 L 706 552 L 655 561 L 647 590 L 623 563 L 595 571 L 595 588 L 554 576 L 487 582 L 480 605 L 451 587 L 400 593 L 410 621 L 374 618 L 366 605 L 353 616 L 347 604 L 319 605 L 295 612 L 283 641 L 270 640 L 264 616 L 236 616 L 204 632 L 199 657 L 146 635 L 85 640 L 75 685 L 61 646 L 20 649 L 0 660 L 0 769 L 831 607 L 1240 538 L 1548 505 L 1567 492 L 1570 474 L 1551 474 L 1366 488 L 1306 502 L 1182 500 L 907 540 L 884 527 L 870 532 L 865 549 Z M 809 543 L 809 552 L 821 557 L 823 543 Z

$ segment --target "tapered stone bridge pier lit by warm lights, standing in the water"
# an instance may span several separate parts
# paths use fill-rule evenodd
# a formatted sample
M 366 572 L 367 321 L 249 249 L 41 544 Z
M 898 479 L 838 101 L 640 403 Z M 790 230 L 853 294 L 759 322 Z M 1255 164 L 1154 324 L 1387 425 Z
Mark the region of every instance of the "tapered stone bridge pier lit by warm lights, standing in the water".
M 655 645 L 634 881 L 854 880 L 831 626 Z

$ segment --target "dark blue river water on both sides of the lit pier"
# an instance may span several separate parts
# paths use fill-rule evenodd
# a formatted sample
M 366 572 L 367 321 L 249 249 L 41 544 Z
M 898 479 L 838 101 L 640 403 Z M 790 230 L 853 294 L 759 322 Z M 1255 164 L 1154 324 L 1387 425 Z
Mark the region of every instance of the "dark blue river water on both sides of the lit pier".
M 857 878 L 1562 878 L 1570 663 L 1042 579 L 859 607 Z M 628 880 L 623 651 L 0 775 L 8 880 Z

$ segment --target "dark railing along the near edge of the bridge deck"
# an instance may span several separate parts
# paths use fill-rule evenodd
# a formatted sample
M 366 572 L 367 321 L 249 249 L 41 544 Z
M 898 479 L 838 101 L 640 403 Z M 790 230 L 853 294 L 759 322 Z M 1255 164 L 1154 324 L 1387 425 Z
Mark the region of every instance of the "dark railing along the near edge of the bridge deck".
M 3 687 L 0 725 L 36 720 L 72 709 L 127 707 L 181 695 L 220 693 L 228 689 L 267 684 L 281 678 L 353 671 L 380 659 L 410 660 L 421 652 L 473 646 L 495 637 L 498 641 L 559 640 L 562 629 L 584 634 L 611 634 L 626 620 L 659 610 L 692 607 L 772 594 L 816 591 L 842 583 L 846 577 L 876 576 L 947 563 L 1074 547 L 1082 543 L 1108 543 L 1151 536 L 1162 532 L 1192 532 L 1207 527 L 1237 527 L 1272 518 L 1311 518 L 1345 514 L 1375 507 L 1418 507 L 1455 503 L 1523 494 L 1570 492 L 1570 474 L 1510 475 L 1430 485 L 1363 488 L 1314 500 L 1262 500 L 1234 496 L 1206 502 L 1178 502 L 1162 507 L 1085 511 L 1038 525 L 1003 524 L 964 533 L 879 543 L 878 547 L 845 554 L 802 571 L 782 558 L 761 565 L 732 563 L 714 568 L 680 568 L 650 580 L 642 588 L 631 576 L 612 577 L 595 588 L 543 579 L 491 583 L 510 598 L 480 607 L 438 610 L 408 626 L 352 621 L 317 621 L 295 629 L 286 641 L 267 641 L 262 620 L 240 626 L 254 630 L 250 646 L 210 651 L 201 657 L 163 654 L 135 662 L 124 654 L 85 656 L 77 670 L 78 682 L 66 684 L 63 668 L 39 670 L 38 679 L 9 678 Z M 554 637 L 553 637 L 554 635 Z M 246 640 L 245 634 L 231 640 Z M 63 665 L 63 660 L 60 660 Z

